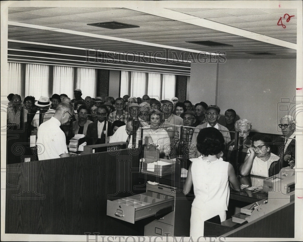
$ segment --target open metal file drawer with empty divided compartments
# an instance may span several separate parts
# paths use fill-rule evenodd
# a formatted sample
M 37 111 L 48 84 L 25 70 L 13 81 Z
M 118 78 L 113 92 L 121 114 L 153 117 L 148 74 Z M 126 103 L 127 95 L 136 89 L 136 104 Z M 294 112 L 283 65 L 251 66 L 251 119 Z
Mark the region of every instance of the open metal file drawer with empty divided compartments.
M 158 192 L 147 191 L 142 194 L 107 200 L 107 215 L 134 224 L 135 221 L 158 216 L 174 210 L 174 197 Z

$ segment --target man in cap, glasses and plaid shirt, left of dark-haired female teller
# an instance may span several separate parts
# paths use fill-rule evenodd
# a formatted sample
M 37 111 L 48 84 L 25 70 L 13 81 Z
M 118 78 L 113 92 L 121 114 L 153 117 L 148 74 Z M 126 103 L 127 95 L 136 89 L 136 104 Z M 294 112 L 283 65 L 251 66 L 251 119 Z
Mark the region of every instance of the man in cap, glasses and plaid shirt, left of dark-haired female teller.
M 181 118 L 183 118 L 184 126 L 182 129 L 181 142 L 180 142 L 180 129 L 177 129 L 175 132 L 175 136 L 173 139 L 173 144 L 176 148 L 176 154 L 181 155 L 183 157 L 187 156 L 187 148 L 191 144 L 192 135 L 194 134 L 194 123 L 196 121 L 195 112 L 191 110 L 187 110 L 181 114 Z M 181 152 L 180 152 L 181 151 Z

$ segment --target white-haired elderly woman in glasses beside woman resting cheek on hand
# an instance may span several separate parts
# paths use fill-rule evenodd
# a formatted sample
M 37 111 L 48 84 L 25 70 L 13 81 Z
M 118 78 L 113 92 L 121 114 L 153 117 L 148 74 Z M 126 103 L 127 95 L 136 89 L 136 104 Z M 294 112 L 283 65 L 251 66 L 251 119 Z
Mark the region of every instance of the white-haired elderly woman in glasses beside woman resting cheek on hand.
M 235 140 L 231 140 L 228 143 L 227 160 L 231 163 L 238 172 L 238 168 L 243 164 L 248 149 L 251 147 L 251 140 L 248 138 L 248 134 L 251 131 L 251 122 L 247 119 L 239 119 L 235 122 L 235 131 L 239 132 L 238 139 L 238 162 L 236 160 L 237 150 L 235 149 Z

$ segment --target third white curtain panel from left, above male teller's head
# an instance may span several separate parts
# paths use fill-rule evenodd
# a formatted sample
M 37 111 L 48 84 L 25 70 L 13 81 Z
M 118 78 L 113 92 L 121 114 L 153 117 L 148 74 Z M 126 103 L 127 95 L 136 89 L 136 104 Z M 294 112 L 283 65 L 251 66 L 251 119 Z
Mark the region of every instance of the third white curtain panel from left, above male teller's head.
M 74 98 L 74 68 L 70 66 L 54 66 L 53 94 L 64 93 Z

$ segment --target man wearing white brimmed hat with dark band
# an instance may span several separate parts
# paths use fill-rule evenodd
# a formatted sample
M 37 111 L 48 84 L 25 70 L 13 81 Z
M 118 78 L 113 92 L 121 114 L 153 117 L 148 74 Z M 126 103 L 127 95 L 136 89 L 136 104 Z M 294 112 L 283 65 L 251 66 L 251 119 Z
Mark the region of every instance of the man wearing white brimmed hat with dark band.
M 38 128 L 39 127 L 39 116 L 40 116 L 40 110 L 42 112 L 42 123 L 45 121 L 48 121 L 50 118 L 52 118 L 52 116 L 54 116 L 55 110 L 52 108 L 49 108 L 49 106 L 52 104 L 52 102 L 50 102 L 48 97 L 44 97 L 41 96 L 39 98 L 39 100 L 37 102 L 35 102 L 35 105 L 38 109 L 38 111 L 36 112 L 36 114 L 34 115 L 34 118 L 32 120 L 32 126 L 34 128 Z M 73 114 L 73 112 L 72 112 Z

